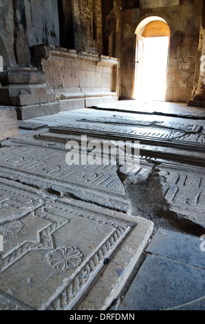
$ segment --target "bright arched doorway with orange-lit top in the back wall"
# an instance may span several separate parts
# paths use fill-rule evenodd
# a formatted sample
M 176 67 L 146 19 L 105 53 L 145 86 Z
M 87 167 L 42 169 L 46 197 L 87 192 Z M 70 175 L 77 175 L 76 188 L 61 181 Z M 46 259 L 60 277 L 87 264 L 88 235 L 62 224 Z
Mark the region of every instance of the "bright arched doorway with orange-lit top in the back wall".
M 136 29 L 134 99 L 164 100 L 170 29 L 161 17 L 149 17 Z

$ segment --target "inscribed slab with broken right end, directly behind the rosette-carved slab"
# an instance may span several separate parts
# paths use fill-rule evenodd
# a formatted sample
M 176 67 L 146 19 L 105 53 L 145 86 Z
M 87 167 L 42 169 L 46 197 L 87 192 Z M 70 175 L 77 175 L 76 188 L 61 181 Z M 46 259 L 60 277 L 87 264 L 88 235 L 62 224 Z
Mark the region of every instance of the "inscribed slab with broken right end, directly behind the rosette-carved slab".
M 116 165 L 67 165 L 66 154 L 66 150 L 37 145 L 1 148 L 0 176 L 114 210 L 131 210 Z

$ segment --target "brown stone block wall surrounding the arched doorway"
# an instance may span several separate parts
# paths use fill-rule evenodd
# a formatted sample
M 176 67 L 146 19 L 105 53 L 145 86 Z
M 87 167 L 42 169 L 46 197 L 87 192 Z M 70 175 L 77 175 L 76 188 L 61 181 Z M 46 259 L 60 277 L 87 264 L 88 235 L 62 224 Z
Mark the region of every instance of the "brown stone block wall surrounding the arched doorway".
M 133 74 L 135 60 L 135 31 L 145 18 L 158 16 L 165 19 L 171 30 L 169 66 L 167 77 L 166 101 L 187 101 L 192 97 L 197 83 L 195 75 L 199 68 L 198 47 L 201 34 L 202 0 L 184 0 L 177 6 L 140 9 L 126 6 L 119 10 L 115 1 L 118 17 L 118 38 L 121 48 L 116 43 L 116 57 L 120 58 L 120 96 L 131 99 L 133 96 Z M 123 1 L 121 1 L 123 2 Z

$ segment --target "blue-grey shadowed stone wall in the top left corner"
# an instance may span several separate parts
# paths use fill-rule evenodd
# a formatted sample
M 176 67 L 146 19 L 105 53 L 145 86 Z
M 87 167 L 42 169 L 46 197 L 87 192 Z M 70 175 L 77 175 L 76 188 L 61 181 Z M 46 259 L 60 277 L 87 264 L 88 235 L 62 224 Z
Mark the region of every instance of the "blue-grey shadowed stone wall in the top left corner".
M 0 55 L 5 67 L 29 67 L 30 48 L 60 45 L 57 0 L 1 0 Z

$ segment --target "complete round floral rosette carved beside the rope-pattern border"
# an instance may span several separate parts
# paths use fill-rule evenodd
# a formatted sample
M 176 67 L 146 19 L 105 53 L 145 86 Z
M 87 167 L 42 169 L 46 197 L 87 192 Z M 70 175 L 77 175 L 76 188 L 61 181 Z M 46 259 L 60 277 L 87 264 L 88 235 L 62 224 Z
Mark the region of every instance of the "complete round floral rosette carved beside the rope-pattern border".
M 61 247 L 52 251 L 49 256 L 49 264 L 58 270 L 75 269 L 83 261 L 83 253 L 77 247 Z

